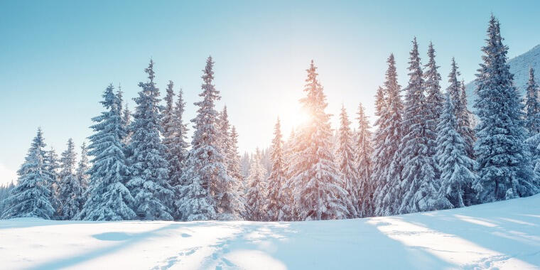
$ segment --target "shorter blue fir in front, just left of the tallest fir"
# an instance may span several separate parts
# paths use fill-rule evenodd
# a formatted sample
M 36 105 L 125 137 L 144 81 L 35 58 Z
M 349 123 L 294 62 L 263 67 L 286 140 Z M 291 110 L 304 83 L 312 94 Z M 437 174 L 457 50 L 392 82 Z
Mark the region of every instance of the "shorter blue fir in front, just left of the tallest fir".
M 436 161 L 441 172 L 440 192 L 453 207 L 470 205 L 466 192 L 476 179 L 475 161 L 469 158 L 465 140 L 458 132 L 453 99 L 446 96 L 443 114 L 437 126 Z

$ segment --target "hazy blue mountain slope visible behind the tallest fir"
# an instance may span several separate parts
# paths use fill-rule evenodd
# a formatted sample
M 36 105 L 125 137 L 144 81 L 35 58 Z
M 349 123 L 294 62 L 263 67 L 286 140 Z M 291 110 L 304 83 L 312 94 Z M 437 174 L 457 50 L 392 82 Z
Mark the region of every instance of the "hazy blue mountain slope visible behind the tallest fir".
M 529 68 L 534 68 L 536 80 L 540 80 L 540 45 L 536 45 L 527 53 L 508 60 L 508 63 L 510 65 L 510 72 L 514 74 L 514 84 L 524 93 L 527 80 L 529 80 Z M 469 82 L 466 87 L 468 107 L 473 110 L 473 102 L 476 99 L 476 84 L 474 81 Z

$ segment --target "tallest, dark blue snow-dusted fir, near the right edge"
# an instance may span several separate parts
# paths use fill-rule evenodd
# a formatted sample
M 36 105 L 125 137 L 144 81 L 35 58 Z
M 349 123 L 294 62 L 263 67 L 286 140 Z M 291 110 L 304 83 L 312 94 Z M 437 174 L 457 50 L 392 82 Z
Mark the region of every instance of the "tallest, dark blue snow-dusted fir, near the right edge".
M 480 118 L 476 126 L 476 171 L 473 183 L 480 202 L 507 200 L 538 193 L 539 185 L 532 170 L 524 142 L 522 97 L 513 85 L 514 75 L 507 64 L 506 45 L 502 44 L 500 23 L 491 16 L 483 63 L 477 73 L 477 99 L 474 107 Z

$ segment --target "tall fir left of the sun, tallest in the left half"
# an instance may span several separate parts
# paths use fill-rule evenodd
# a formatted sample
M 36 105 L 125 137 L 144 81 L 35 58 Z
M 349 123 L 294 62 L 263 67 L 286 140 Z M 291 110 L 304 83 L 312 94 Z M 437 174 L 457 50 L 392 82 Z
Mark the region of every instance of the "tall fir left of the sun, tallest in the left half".
M 208 57 L 205 69 L 202 70 L 202 101 L 195 102 L 198 106 L 197 116 L 192 119 L 195 129 L 191 150 L 188 158 L 188 168 L 183 174 L 186 185 L 182 188 L 181 212 L 184 220 L 212 220 L 215 218 L 238 217 L 234 212 L 235 204 L 228 196 L 233 190 L 234 179 L 227 175 L 225 158 L 220 149 L 220 129 L 217 126 L 218 112 L 215 102 L 219 100 L 220 92 L 212 84 L 214 71 L 212 57 Z M 218 216 L 216 216 L 219 214 Z

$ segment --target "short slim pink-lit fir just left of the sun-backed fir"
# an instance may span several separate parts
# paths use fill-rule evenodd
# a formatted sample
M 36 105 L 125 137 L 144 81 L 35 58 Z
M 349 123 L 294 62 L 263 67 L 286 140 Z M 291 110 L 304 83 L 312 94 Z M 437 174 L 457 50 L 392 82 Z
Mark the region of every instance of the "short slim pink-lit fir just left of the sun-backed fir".
M 279 118 L 274 126 L 274 139 L 272 139 L 271 161 L 272 169 L 268 178 L 268 220 L 285 221 L 291 217 L 290 196 L 287 194 L 285 178 L 285 160 L 283 153 L 283 136 Z

